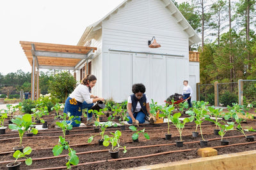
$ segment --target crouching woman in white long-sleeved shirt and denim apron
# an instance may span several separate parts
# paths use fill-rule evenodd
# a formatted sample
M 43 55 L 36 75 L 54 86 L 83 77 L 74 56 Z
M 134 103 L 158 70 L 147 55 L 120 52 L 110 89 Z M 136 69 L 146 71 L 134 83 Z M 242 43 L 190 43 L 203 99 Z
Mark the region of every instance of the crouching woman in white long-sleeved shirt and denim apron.
M 81 84 L 79 84 L 76 89 L 68 96 L 65 102 L 64 113 L 70 112 L 70 116 L 75 118 L 72 120 L 73 127 L 79 127 L 80 124 L 76 124 L 75 120 L 81 120 L 82 110 L 92 108 L 93 103 L 97 101 L 104 101 L 103 98 L 93 96 L 91 94 L 92 88 L 95 86 L 97 78 L 93 74 L 87 74 Z M 87 125 L 94 124 L 92 120 L 92 113 L 88 113 L 87 110 Z

